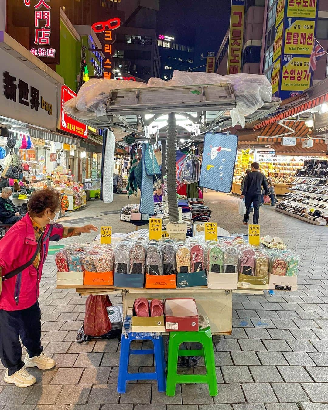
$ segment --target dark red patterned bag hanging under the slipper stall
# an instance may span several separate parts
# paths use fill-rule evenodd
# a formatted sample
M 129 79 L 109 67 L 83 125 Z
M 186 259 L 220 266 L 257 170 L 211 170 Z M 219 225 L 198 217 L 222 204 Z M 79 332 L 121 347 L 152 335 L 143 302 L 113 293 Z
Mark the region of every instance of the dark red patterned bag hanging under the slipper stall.
M 90 295 L 85 302 L 84 333 L 103 336 L 112 329 L 107 307 L 112 306 L 108 295 Z

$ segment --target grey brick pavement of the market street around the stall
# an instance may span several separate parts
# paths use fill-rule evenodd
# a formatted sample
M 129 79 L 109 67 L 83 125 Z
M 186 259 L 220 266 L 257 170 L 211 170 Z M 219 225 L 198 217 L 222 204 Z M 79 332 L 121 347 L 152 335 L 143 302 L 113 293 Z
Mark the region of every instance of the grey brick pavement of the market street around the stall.
M 80 218 L 91 223 L 95 218 L 95 225 L 110 224 L 114 232 L 134 230 L 134 225 L 119 221 L 118 214 L 106 214 L 127 202 L 125 195 L 114 197 L 112 204 L 89 202 L 64 223 Z M 205 200 L 212 221 L 231 233 L 246 233 L 237 197 L 209 191 Z M 25 389 L 7 385 L 0 367 L 0 410 L 327 410 L 327 404 L 319 403 L 328 403 L 328 230 L 269 206 L 261 207 L 260 224 L 262 235 L 282 237 L 301 255 L 299 290 L 233 295 L 232 335 L 215 343 L 218 396 L 208 396 L 203 385 L 183 385 L 175 397 L 167 397 L 150 381 L 131 383 L 126 394 L 118 395 L 118 342 L 76 344 L 85 298 L 74 289 L 55 288 L 54 257 L 49 256 L 39 303 L 42 344 L 57 367 L 32 369 L 38 384 Z M 94 235 L 83 239 L 91 241 Z M 119 303 L 121 298 L 111 300 Z M 149 371 L 153 361 L 137 357 L 132 366 Z

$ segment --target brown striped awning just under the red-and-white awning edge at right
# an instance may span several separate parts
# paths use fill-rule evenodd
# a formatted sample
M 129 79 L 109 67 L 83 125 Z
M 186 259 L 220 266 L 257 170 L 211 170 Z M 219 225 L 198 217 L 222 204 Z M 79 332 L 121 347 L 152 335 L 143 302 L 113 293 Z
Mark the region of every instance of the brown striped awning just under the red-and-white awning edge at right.
M 305 125 L 304 121 L 285 121 L 282 125 L 281 123 L 273 123 L 266 125 L 262 130 L 255 130 L 258 137 L 265 137 L 266 139 L 271 140 L 272 138 L 268 137 L 295 137 L 295 138 L 304 138 L 307 134 L 310 133 L 309 127 Z M 293 131 L 289 130 L 292 128 Z

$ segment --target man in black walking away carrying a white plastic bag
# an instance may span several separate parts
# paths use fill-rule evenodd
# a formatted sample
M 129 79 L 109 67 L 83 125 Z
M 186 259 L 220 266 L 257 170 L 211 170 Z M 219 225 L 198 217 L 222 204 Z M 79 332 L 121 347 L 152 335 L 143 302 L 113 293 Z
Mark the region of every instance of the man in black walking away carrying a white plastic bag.
M 264 194 L 268 195 L 268 183 L 266 176 L 260 171 L 260 164 L 253 162 L 251 164 L 251 172 L 247 174 L 245 178 L 244 188 L 241 192 L 241 198 L 245 198 L 246 214 L 244 215 L 243 223 L 248 224 L 249 212 L 253 204 L 253 224 L 257 225 L 260 216 L 260 200 L 262 187 L 264 188 Z

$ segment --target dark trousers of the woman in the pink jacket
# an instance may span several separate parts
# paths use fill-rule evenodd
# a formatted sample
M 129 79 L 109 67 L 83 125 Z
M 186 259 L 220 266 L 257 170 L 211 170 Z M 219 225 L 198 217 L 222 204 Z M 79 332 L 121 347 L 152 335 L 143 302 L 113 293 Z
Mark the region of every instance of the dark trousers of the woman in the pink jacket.
M 0 359 L 11 376 L 24 367 L 22 347 L 27 349 L 30 358 L 41 355 L 41 311 L 39 303 L 24 310 L 9 312 L 0 310 Z

